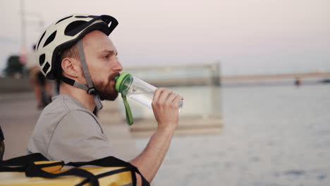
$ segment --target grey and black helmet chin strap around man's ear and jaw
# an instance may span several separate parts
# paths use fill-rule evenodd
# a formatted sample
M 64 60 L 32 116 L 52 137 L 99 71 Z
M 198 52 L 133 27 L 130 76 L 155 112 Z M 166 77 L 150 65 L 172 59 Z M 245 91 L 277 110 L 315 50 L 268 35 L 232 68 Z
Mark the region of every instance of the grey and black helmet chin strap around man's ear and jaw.
M 78 46 L 79 57 L 80 57 L 81 65 L 82 65 L 82 72 L 85 75 L 85 80 L 87 82 L 87 86 L 82 85 L 80 82 L 76 82 L 75 80 L 72 80 L 63 75 L 61 75 L 61 80 L 63 82 L 66 82 L 68 85 L 72 85 L 73 87 L 77 87 L 79 89 L 85 90 L 87 92 L 87 94 L 94 95 L 94 102 L 97 106 L 97 109 L 101 110 L 103 108 L 103 105 L 102 105 L 101 99 L 99 97 L 99 94 L 97 93 L 97 90 L 95 89 L 95 87 L 93 85 L 92 78 L 90 77 L 90 73 L 88 71 L 86 58 L 85 58 L 85 54 L 84 54 L 84 49 L 82 47 L 82 39 L 80 39 L 78 41 L 77 46 Z

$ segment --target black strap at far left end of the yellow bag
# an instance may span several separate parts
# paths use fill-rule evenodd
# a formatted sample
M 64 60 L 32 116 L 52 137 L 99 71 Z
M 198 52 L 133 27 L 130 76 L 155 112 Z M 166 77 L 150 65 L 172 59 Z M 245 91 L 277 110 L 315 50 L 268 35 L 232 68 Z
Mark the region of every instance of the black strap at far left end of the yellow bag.
M 40 153 L 28 154 L 6 161 L 0 161 L 0 172 L 24 172 L 27 163 L 34 161 L 48 161 L 47 158 Z

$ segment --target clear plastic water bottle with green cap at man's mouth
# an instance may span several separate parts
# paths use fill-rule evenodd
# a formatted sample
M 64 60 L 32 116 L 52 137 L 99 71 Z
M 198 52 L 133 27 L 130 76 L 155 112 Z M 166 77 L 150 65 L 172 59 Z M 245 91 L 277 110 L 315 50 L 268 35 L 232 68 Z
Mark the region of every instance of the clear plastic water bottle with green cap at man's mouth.
M 150 85 L 149 83 L 140 80 L 138 77 L 130 75 L 129 73 L 122 73 L 116 77 L 116 90 L 126 97 L 138 101 L 150 109 L 152 109 L 152 99 L 154 97 L 154 91 L 157 87 Z M 178 105 L 178 112 L 180 113 L 183 106 L 181 100 Z

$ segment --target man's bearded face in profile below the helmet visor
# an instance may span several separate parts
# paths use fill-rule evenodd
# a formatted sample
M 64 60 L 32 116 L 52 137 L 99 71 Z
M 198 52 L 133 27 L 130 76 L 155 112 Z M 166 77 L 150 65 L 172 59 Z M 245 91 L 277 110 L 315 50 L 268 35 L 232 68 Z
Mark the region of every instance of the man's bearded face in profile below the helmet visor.
M 92 31 L 82 39 L 85 58 L 94 87 L 106 100 L 115 100 L 115 77 L 123 67 L 117 59 L 117 50 L 108 36 L 98 30 Z

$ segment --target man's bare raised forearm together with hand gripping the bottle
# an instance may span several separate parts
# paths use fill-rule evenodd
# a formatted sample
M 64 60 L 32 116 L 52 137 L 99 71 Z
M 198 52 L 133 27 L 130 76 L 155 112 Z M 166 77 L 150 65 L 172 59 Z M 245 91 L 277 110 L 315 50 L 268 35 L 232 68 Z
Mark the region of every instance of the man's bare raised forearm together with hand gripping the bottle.
M 183 98 L 171 90 L 159 88 L 154 92 L 152 109 L 158 122 L 158 129 L 150 138 L 147 147 L 130 161 L 138 167 L 148 182 L 152 182 L 164 156 L 169 149 L 174 130 L 178 125 L 178 104 Z M 137 176 L 140 184 L 140 176 Z

